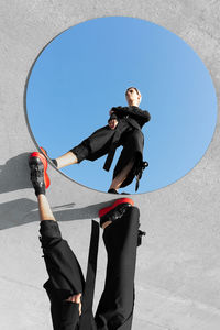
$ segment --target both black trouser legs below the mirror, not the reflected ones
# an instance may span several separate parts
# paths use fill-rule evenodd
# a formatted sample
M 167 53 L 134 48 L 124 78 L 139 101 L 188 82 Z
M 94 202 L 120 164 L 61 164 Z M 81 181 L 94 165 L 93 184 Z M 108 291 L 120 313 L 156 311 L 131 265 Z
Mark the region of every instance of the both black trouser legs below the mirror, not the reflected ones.
M 41 241 L 50 276 L 44 288 L 51 300 L 54 330 L 131 329 L 139 217 L 139 209 L 130 207 L 121 219 L 103 231 L 108 263 L 105 289 L 95 317 L 88 309 L 79 317 L 78 305 L 65 301 L 78 293 L 82 293 L 84 299 L 84 275 L 76 255 L 62 239 L 57 222 L 41 222 Z M 84 329 L 80 328 L 82 318 L 86 318 Z

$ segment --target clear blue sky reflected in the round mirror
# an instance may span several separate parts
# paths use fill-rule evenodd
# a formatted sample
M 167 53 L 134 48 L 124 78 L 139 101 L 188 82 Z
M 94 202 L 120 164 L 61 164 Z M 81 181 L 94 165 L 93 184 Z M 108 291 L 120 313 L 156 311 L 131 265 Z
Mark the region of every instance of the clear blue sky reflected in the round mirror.
M 58 157 L 107 124 L 109 110 L 127 106 L 124 91 L 142 92 L 145 169 L 138 193 L 165 187 L 186 175 L 215 132 L 217 99 L 201 59 L 182 38 L 151 22 L 109 16 L 75 25 L 38 56 L 26 90 L 32 132 L 50 157 Z M 62 168 L 74 180 L 107 191 L 106 156 Z M 122 190 L 134 194 L 135 183 Z

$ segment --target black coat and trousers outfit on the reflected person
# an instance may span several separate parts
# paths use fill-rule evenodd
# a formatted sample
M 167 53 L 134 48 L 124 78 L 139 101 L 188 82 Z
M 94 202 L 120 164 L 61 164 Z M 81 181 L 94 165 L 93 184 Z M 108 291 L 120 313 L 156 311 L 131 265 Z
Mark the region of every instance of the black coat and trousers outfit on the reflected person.
M 113 178 L 133 160 L 134 166 L 121 185 L 121 187 L 125 187 L 132 183 L 136 169 L 143 161 L 144 135 L 142 127 L 150 121 L 151 116 L 148 111 L 141 110 L 135 106 L 113 107 L 110 119 L 117 119 L 119 122 L 114 130 L 111 130 L 109 125 L 97 130 L 79 145 L 72 148 L 72 152 L 77 155 L 78 163 L 82 160 L 96 161 L 108 154 L 105 169 L 109 170 L 116 148 L 122 145 L 123 150 L 116 165 Z

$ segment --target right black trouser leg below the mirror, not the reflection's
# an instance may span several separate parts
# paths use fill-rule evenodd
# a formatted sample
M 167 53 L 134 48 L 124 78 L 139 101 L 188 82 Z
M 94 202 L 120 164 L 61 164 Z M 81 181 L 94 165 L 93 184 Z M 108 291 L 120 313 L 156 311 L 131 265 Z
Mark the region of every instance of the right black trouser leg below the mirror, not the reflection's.
M 139 217 L 139 209 L 130 207 L 121 219 L 105 229 L 108 265 L 95 318 L 98 330 L 131 329 Z

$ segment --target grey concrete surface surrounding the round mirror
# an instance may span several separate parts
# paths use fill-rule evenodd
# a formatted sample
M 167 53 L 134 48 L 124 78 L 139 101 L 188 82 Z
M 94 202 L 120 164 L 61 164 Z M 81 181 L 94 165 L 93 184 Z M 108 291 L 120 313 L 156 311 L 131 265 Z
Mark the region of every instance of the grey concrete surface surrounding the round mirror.
M 24 86 L 42 47 L 88 19 L 128 15 L 157 23 L 200 56 L 220 96 L 218 0 L 0 1 L 0 329 L 52 329 L 38 244 L 36 199 L 26 155 L 35 150 L 24 114 Z M 209 109 L 207 109 L 208 113 Z M 220 328 L 220 123 L 200 163 L 177 183 L 135 195 L 147 238 L 139 249 L 133 330 Z M 79 186 L 50 166 L 47 194 L 63 235 L 86 267 L 91 218 L 112 196 Z M 95 308 L 105 278 L 100 240 Z

